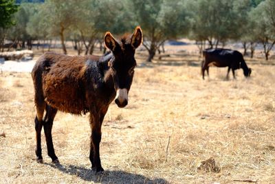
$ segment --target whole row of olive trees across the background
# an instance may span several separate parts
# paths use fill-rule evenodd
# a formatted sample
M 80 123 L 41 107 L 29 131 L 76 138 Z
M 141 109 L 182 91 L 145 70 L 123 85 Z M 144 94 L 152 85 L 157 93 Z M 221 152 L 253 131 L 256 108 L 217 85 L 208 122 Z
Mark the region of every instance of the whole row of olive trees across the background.
M 21 3 L 12 13 L 15 25 L 4 17 L 9 23 L 3 26 L 1 17 L 0 47 L 4 39 L 29 49 L 32 41 L 60 39 L 65 54 L 66 40 L 74 41 L 78 54 L 91 54 L 104 32 L 122 34 L 136 25 L 144 31 L 147 61 L 164 41 L 179 37 L 197 41 L 200 50 L 241 41 L 244 54 L 250 49 L 252 57 L 256 43 L 262 43 L 266 59 L 275 44 L 274 0 L 46 0 Z

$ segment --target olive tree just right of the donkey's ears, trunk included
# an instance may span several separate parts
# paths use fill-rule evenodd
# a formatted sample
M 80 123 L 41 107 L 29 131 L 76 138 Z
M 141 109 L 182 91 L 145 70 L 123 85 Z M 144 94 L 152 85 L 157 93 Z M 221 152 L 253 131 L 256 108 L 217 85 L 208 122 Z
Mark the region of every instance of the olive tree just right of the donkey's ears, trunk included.
M 188 32 L 188 11 L 183 0 L 136 0 L 132 10 L 144 31 L 143 45 L 149 52 L 147 61 L 153 59 L 155 51 L 164 41 Z

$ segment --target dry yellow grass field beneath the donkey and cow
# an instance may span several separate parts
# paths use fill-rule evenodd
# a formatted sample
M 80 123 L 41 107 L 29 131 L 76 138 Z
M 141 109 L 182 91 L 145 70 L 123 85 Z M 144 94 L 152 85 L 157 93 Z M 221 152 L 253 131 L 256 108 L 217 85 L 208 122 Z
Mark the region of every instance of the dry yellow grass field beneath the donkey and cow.
M 102 125 L 104 172 L 90 170 L 87 115 L 58 112 L 60 165 L 36 163 L 30 73 L 0 74 L 0 183 L 275 183 L 275 61 L 246 59 L 252 76 L 210 68 L 195 52 L 138 66 L 129 105 L 111 103 Z M 72 52 L 72 51 L 71 51 Z M 179 54 L 177 54 L 179 53 Z

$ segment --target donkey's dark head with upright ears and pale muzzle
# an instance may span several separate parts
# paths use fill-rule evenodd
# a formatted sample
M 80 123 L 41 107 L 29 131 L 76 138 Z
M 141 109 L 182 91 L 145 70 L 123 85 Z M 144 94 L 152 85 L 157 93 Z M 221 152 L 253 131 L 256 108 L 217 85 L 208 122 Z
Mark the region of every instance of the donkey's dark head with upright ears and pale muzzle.
M 115 103 L 119 108 L 128 104 L 128 93 L 133 81 L 135 49 L 142 43 L 142 29 L 138 26 L 129 37 L 116 41 L 110 32 L 106 32 L 104 45 L 111 50 L 113 58 L 109 61 L 111 76 L 116 91 Z

